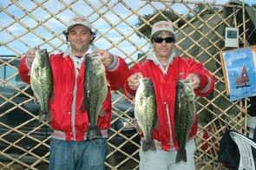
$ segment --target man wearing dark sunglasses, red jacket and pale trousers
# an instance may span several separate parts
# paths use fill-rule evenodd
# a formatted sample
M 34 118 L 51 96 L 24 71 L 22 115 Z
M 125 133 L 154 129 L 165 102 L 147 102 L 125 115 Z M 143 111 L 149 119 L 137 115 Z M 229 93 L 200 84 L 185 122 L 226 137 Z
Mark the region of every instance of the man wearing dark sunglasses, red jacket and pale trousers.
M 197 120 L 191 127 L 186 150 L 187 161 L 175 163 L 178 144 L 174 137 L 174 102 L 176 84 L 181 79 L 191 79 L 194 93 L 201 97 L 210 94 L 214 79 L 207 69 L 192 58 L 176 56 L 173 23 L 160 21 L 154 23 L 151 32 L 153 52 L 129 70 L 124 93 L 134 98 L 141 76 L 149 77 L 154 84 L 157 108 L 157 123 L 153 130 L 156 150 L 143 151 L 140 148 L 140 170 L 194 170 L 194 137 Z M 196 114 L 195 114 L 196 115 Z

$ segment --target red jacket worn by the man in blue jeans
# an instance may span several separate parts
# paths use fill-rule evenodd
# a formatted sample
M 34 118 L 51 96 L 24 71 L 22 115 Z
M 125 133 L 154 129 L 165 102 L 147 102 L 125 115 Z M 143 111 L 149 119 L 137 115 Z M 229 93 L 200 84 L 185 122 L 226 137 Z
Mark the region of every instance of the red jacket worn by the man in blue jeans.
M 99 116 L 98 127 L 108 129 L 111 121 L 111 90 L 123 86 L 128 66 L 121 57 L 116 56 L 116 67 L 114 70 L 107 70 L 106 75 L 110 88 L 108 88 L 107 99 L 103 103 L 104 116 Z M 73 90 L 75 86 L 75 66 L 70 56 L 63 53 L 49 56 L 53 73 L 54 92 L 49 101 L 49 110 L 52 116 L 51 127 L 64 135 L 63 140 L 82 141 L 89 127 L 87 111 L 80 110 L 83 98 L 83 81 L 85 64 L 82 64 L 77 75 L 77 92 L 75 101 L 75 125 L 71 122 L 71 109 L 73 101 Z M 30 69 L 27 67 L 25 57 L 22 58 L 19 66 L 19 73 L 24 82 L 30 83 Z M 118 77 L 118 78 L 116 78 Z M 74 114 L 73 114 L 74 117 Z M 73 129 L 72 129 L 73 128 Z M 74 130 L 75 129 L 75 130 Z M 106 132 L 107 130 L 105 130 Z M 74 137 L 75 136 L 75 137 Z M 62 138 L 63 136 L 60 136 Z

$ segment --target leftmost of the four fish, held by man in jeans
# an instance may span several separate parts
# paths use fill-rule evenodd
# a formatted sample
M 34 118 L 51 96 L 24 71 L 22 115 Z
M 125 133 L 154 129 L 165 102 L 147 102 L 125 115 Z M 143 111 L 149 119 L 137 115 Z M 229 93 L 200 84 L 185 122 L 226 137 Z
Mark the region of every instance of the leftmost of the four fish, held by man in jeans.
M 49 98 L 52 95 L 52 72 L 46 49 L 37 49 L 30 69 L 30 84 L 40 105 L 39 121 L 50 121 Z

